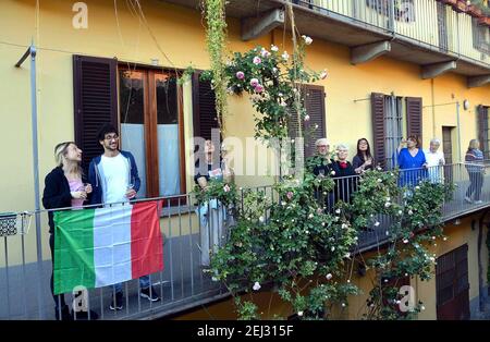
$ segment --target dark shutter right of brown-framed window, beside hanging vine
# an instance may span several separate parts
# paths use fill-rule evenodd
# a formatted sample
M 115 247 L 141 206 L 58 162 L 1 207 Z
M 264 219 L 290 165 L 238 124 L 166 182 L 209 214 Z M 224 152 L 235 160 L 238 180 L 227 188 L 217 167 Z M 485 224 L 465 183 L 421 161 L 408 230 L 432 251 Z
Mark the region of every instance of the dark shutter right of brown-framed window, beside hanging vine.
M 211 82 L 199 80 L 199 73 L 193 75 L 194 136 L 211 139 L 211 130 L 219 129 L 216 112 L 216 96 Z

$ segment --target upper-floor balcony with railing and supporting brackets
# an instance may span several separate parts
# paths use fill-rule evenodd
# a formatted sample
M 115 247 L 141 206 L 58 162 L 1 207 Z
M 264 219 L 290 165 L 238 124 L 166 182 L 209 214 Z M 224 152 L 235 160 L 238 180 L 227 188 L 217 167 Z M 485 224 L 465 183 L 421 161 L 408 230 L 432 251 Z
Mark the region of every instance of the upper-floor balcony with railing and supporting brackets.
M 198 9 L 198 0 L 162 0 Z M 445 72 L 467 76 L 468 87 L 490 82 L 490 29 L 470 11 L 443 0 L 293 0 L 303 35 L 347 46 L 351 63 L 380 56 L 420 65 L 422 78 Z M 454 0 L 456 2 L 456 0 Z M 275 27 L 291 29 L 284 0 L 229 0 L 226 16 L 238 19 L 242 39 Z M 490 23 L 490 20 L 488 21 Z

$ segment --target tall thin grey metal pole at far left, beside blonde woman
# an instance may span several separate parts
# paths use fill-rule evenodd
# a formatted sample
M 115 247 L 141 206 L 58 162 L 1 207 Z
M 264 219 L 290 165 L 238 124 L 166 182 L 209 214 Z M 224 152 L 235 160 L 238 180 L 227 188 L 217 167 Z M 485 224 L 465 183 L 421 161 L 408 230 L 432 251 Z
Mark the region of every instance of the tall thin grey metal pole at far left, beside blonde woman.
M 36 47 L 30 44 L 27 51 L 15 64 L 15 68 L 21 68 L 22 63 L 30 56 L 30 122 L 32 122 L 32 138 L 33 138 L 33 175 L 34 175 L 34 206 L 35 206 L 35 221 L 36 221 L 36 247 L 37 247 L 37 270 L 39 279 L 42 277 L 42 244 L 40 231 L 40 192 L 39 192 L 39 155 L 37 144 L 37 85 L 36 85 Z M 44 318 L 42 313 L 42 294 L 41 286 L 37 288 L 37 304 L 39 306 L 39 318 Z

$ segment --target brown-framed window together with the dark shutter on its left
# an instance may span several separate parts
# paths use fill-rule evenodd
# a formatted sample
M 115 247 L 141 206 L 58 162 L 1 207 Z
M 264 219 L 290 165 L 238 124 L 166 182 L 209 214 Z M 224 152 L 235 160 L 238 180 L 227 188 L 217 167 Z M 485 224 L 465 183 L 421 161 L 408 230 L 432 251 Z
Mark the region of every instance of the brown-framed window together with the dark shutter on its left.
M 96 137 L 100 125 L 120 123 L 120 148 L 133 154 L 142 179 L 138 196 L 184 194 L 181 94 L 173 71 L 74 56 L 75 141 L 84 150 L 85 169 L 102 154 Z

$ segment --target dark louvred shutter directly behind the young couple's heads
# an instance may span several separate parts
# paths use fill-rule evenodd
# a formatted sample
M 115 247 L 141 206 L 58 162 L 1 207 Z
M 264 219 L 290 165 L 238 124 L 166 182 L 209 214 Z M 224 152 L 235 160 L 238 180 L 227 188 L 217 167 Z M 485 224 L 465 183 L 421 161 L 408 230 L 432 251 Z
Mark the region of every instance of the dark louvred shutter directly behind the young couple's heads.
M 73 56 L 75 143 L 84 151 L 85 174 L 103 152 L 97 131 L 105 123 L 118 126 L 117 66 L 115 59 Z

